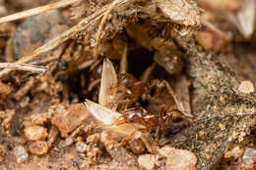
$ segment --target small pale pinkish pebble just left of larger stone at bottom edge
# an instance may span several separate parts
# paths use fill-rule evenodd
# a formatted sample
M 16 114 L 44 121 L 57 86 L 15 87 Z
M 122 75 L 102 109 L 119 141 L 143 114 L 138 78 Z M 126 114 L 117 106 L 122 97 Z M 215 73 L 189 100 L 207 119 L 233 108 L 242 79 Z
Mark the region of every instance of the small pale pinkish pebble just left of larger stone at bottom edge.
M 151 154 L 140 155 L 138 158 L 139 165 L 145 169 L 154 169 L 155 162 L 156 162 L 156 157 L 155 155 L 151 155 Z

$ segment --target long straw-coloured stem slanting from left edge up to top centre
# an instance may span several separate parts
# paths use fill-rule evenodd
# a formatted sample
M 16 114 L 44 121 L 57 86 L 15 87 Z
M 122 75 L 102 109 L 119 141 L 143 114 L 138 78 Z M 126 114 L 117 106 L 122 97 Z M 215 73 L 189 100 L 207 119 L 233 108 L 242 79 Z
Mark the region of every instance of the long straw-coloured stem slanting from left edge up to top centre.
M 124 7 L 125 5 L 129 5 L 133 1 L 134 0 L 118 1 L 118 3 L 115 5 L 115 7 L 116 8 L 117 7 Z M 23 58 L 18 60 L 17 63 L 29 62 L 32 59 L 36 58 L 38 55 L 56 48 L 61 43 L 65 42 L 66 40 L 68 40 L 69 38 L 74 36 L 77 32 L 96 24 L 96 21 L 98 21 L 102 17 L 104 12 L 109 9 L 110 5 L 109 4 L 105 5 L 104 7 L 102 7 L 98 11 L 96 11 L 96 13 L 94 13 L 93 15 L 83 19 L 78 25 L 74 26 L 73 28 L 68 29 L 67 31 L 63 32 L 59 36 L 53 38 L 52 40 L 48 41 L 44 45 L 35 49 L 32 52 L 32 54 L 30 54 L 28 56 L 24 56 Z M 0 78 L 3 77 L 6 74 L 9 74 L 11 71 L 12 71 L 12 69 L 4 69 L 3 71 L 0 72 Z

